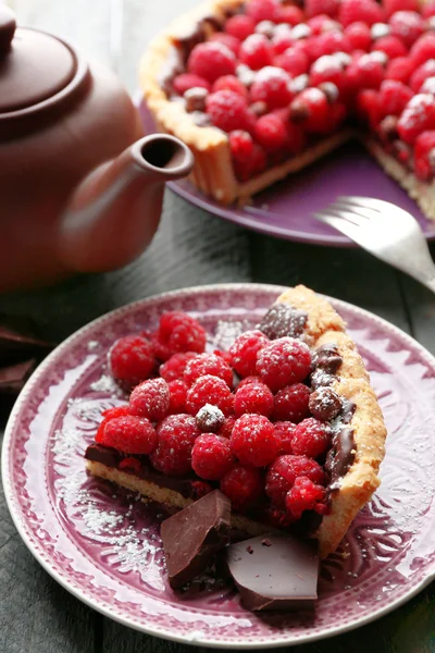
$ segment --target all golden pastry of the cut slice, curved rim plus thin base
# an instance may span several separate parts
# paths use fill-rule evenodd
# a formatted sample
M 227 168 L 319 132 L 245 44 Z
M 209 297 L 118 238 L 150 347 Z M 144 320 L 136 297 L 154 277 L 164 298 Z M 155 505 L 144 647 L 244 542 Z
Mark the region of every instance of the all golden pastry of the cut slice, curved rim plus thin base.
M 306 335 L 311 346 L 334 344 L 338 348 L 343 364 L 332 387 L 356 406 L 347 424 L 353 432 L 355 460 L 339 480 L 339 486 L 332 491 L 331 514 L 323 517 L 313 535 L 319 540 L 320 554 L 324 558 L 337 549 L 351 521 L 380 484 L 377 471 L 384 457 L 386 429 L 362 358 L 356 344 L 345 332 L 345 322 L 331 304 L 302 285 L 289 288 L 277 301 L 307 312 Z M 139 492 L 144 501 L 152 500 L 174 508 L 184 508 L 192 501 L 174 490 L 161 488 L 152 481 L 107 467 L 101 463 L 87 460 L 87 468 L 94 476 Z M 249 535 L 271 531 L 270 527 L 237 514 L 232 516 L 232 526 Z

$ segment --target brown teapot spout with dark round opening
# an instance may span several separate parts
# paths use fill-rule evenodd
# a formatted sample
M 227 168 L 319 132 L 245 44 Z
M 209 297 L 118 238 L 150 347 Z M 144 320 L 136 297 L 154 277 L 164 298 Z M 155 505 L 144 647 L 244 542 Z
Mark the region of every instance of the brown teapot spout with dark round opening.
M 194 156 L 181 140 L 153 134 L 94 170 L 59 225 L 59 258 L 76 272 L 103 272 L 138 257 L 151 242 L 164 184 L 187 176 Z

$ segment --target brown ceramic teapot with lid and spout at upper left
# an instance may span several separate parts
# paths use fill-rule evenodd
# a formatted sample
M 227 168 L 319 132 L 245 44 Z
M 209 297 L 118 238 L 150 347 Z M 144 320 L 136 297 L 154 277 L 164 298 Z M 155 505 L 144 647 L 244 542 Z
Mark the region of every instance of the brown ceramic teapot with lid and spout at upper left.
M 0 5 L 0 291 L 122 267 L 151 241 L 176 138 L 142 135 L 120 82 Z M 116 158 L 115 158 L 116 157 Z

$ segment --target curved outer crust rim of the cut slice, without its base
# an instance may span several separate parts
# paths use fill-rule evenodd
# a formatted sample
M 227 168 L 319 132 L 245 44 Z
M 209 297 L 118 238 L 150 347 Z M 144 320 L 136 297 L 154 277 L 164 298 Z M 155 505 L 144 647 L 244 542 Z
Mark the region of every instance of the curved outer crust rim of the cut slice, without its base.
M 307 331 L 314 348 L 326 344 L 337 346 L 343 364 L 332 387 L 356 406 L 347 424 L 353 432 L 355 461 L 340 480 L 338 490 L 331 493 L 331 513 L 323 517 L 315 533 L 324 558 L 337 549 L 353 518 L 380 485 L 377 472 L 384 458 L 387 433 L 364 362 L 331 304 L 304 286 L 288 289 L 278 301 L 308 313 Z

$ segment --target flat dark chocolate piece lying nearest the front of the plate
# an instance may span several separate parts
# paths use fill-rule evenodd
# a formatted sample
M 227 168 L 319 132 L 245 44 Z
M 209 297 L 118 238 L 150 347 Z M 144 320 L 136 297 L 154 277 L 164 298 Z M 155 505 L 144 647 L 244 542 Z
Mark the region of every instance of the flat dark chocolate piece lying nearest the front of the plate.
M 251 611 L 313 608 L 318 597 L 318 543 L 275 534 L 228 546 L 226 562 L 244 606 Z M 249 552 L 248 552 L 249 549 Z

